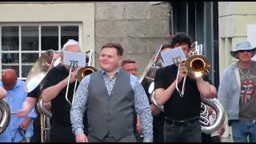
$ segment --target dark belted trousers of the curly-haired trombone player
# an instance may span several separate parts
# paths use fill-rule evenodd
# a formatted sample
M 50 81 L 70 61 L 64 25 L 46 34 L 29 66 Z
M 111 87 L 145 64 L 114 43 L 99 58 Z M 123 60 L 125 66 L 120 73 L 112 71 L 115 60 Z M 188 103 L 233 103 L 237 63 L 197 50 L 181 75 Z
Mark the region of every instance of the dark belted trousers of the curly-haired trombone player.
M 172 122 L 166 119 L 164 140 L 165 142 L 202 142 L 199 119 L 190 122 Z

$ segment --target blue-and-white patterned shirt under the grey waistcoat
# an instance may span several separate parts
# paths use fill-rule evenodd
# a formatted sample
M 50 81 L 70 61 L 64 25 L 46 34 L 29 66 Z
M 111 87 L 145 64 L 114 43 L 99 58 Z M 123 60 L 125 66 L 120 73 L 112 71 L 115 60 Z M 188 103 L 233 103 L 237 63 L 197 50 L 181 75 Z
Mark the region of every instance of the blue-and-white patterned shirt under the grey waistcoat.
M 110 78 L 106 72 L 102 71 L 104 82 L 106 84 L 106 89 L 108 94 L 114 87 L 114 82 L 117 78 L 117 73 L 113 78 Z M 82 118 L 86 110 L 86 102 L 88 97 L 88 85 L 90 82 L 90 75 L 87 75 L 82 79 L 76 91 L 72 107 L 70 109 L 70 120 L 72 124 L 72 130 L 75 135 L 83 134 L 83 124 Z M 145 90 L 143 89 L 141 83 L 138 81 L 134 75 L 130 75 L 130 85 L 134 90 L 134 107 L 137 114 L 141 117 L 142 130 L 143 130 L 143 142 L 153 142 L 153 118 L 150 110 L 149 100 L 146 96 Z

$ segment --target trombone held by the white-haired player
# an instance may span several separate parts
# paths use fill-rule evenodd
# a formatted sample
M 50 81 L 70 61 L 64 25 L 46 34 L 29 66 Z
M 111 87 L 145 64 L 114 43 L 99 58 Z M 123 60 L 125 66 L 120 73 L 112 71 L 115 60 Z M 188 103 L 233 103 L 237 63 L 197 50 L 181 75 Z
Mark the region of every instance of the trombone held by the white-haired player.
M 74 83 L 74 93 L 73 93 L 73 97 L 72 97 L 72 102 L 74 100 L 74 95 L 75 95 L 75 91 L 78 85 L 78 82 L 82 81 L 82 78 L 86 77 L 86 75 L 92 74 L 94 72 L 97 71 L 96 68 L 94 68 L 93 66 L 91 66 L 94 62 L 94 51 L 93 50 L 88 50 L 86 51 L 86 57 L 88 58 L 88 62 L 86 63 L 85 67 L 82 67 L 81 69 L 78 70 L 78 73 L 76 74 L 76 81 Z M 74 63 L 71 63 L 70 66 L 70 73 L 68 76 L 68 82 L 67 82 L 67 86 L 66 86 L 66 101 L 72 105 L 72 102 L 70 102 L 70 100 L 68 99 L 68 91 L 69 91 L 69 86 L 70 86 L 70 76 L 71 76 L 71 70 L 73 70 L 75 68 Z

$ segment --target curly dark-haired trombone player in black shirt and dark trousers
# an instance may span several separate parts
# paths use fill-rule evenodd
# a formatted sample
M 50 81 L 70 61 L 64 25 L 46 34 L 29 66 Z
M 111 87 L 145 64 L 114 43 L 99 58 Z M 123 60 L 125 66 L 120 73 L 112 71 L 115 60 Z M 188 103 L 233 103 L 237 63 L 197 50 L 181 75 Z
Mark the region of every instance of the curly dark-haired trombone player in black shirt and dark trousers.
M 191 38 L 185 33 L 175 34 L 171 40 L 172 47 L 182 46 L 183 53 L 189 54 Z M 186 75 L 184 64 L 180 67 L 178 88 L 182 90 L 183 78 Z M 183 97 L 176 90 L 176 64 L 157 70 L 154 78 L 155 99 L 158 105 L 164 106 L 166 121 L 164 125 L 165 142 L 202 142 L 201 124 L 199 122 L 201 97 L 214 98 L 216 88 L 208 78 L 186 77 Z

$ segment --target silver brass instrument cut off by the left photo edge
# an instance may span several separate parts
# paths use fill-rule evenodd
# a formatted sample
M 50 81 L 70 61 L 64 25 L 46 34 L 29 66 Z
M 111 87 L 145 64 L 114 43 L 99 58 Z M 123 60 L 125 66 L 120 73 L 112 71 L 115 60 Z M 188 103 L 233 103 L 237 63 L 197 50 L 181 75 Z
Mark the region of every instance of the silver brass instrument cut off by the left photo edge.
M 10 106 L 4 100 L 0 100 L 0 134 L 2 134 L 10 123 Z

